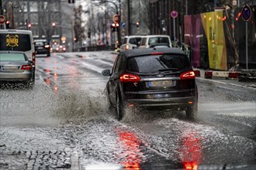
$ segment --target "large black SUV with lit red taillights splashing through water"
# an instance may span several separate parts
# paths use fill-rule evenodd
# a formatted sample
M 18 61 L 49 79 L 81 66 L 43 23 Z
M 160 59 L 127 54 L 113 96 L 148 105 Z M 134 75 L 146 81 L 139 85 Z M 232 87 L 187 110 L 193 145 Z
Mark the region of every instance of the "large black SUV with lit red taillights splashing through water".
M 195 73 L 181 49 L 125 50 L 116 57 L 112 71 L 102 75 L 110 76 L 106 96 L 118 120 L 128 107 L 185 110 L 192 119 L 197 114 Z

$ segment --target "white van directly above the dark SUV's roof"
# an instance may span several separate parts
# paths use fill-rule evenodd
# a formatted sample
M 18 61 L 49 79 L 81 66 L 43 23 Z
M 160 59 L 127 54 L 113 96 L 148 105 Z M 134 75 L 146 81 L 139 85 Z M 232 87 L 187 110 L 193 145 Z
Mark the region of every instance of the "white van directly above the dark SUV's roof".
M 154 46 L 157 46 L 157 45 L 172 47 L 170 36 L 167 36 L 167 35 L 143 36 L 141 41 L 140 41 L 139 49 L 150 48 L 152 46 L 154 47 Z

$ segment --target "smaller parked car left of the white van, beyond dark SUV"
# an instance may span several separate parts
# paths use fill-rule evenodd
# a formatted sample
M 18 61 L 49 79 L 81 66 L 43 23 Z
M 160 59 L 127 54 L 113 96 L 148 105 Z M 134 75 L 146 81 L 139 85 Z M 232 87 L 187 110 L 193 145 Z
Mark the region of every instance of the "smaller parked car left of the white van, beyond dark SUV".
M 126 49 L 136 49 L 140 45 L 142 36 L 124 36 L 120 51 Z

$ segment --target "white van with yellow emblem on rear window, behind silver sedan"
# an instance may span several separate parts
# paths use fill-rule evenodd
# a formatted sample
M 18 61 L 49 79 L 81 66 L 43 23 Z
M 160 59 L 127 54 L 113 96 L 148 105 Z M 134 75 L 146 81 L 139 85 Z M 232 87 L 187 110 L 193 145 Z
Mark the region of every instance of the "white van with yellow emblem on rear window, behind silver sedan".
M 35 80 L 36 53 L 33 34 L 29 30 L 0 29 L 0 51 L 20 51 L 33 62 L 33 80 Z

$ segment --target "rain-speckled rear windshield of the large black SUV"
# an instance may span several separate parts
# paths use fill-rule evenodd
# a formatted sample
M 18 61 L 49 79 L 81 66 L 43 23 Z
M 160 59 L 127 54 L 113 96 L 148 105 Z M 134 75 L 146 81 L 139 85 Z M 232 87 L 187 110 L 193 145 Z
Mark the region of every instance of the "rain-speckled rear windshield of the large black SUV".
M 137 73 L 179 71 L 190 68 L 185 55 L 136 56 L 128 58 L 127 70 Z

